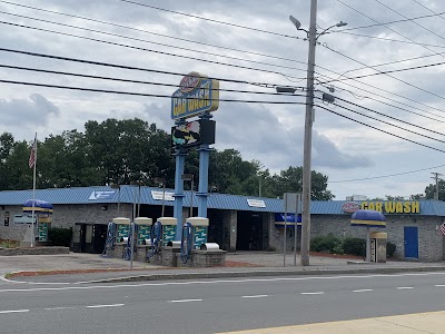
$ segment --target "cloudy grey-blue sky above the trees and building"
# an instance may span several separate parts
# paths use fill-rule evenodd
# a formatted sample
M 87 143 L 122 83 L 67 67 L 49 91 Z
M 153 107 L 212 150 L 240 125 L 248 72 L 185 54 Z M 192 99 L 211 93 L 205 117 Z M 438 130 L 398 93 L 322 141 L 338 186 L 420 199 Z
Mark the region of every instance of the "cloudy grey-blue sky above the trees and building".
M 309 4 L 309 0 L 0 0 L 1 49 L 158 72 L 4 50 L 1 66 L 164 86 L 4 67 L 0 77 L 170 96 L 176 88 L 167 85 L 178 85 L 181 76 L 161 71 L 198 71 L 227 79 L 221 89 L 268 92 L 220 92 L 221 99 L 256 102 L 220 102 L 214 112 L 215 147 L 236 148 L 245 159 L 258 159 L 278 173 L 303 164 L 305 107 L 294 102 L 304 102 L 304 97 L 270 94 L 275 86 L 306 86 L 306 33 L 297 31 L 288 17 L 307 29 Z M 336 199 L 353 194 L 408 197 L 424 193 L 432 173 L 445 175 L 444 12 L 445 2 L 439 0 L 319 1 L 318 33 L 339 21 L 348 23 L 320 36 L 316 50 L 316 89 L 334 90 L 337 100 L 335 105 L 316 100 L 334 112 L 315 108 L 312 163 L 313 169 L 328 176 Z M 0 85 L 0 132 L 10 131 L 17 140 L 31 140 L 34 131 L 40 140 L 63 130 L 82 131 L 86 121 L 110 117 L 139 117 L 165 130 L 172 125 L 169 98 Z

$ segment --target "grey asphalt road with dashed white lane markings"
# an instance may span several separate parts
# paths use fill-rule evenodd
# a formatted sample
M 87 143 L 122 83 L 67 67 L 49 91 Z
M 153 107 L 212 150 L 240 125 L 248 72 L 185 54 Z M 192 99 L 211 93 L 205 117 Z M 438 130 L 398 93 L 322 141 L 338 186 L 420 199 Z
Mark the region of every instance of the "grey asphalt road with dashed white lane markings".
M 0 333 L 217 333 L 445 310 L 445 273 L 2 284 Z

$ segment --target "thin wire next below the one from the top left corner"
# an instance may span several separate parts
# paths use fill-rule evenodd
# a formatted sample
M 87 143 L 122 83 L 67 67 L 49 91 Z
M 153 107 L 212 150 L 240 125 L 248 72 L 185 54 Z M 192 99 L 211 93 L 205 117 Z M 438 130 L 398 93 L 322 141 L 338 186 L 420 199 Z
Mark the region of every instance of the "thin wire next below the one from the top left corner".
M 6 12 L 6 11 L 1 11 L 1 10 L 0 10 L 0 13 L 7 14 L 7 16 L 12 16 L 12 17 L 18 17 L 18 18 L 23 18 L 23 19 L 28 19 L 28 20 L 34 20 L 34 21 L 39 21 L 39 22 L 46 22 L 46 23 L 50 23 L 50 24 L 61 26 L 61 27 L 68 27 L 68 28 L 73 28 L 73 29 L 79 29 L 79 30 L 85 30 L 85 31 L 90 31 L 90 32 L 112 36 L 112 37 L 119 37 L 119 38 L 129 39 L 129 40 L 147 42 L 147 43 L 168 47 L 168 48 L 174 48 L 174 49 L 178 49 L 178 50 L 191 51 L 191 52 L 197 52 L 197 53 L 201 53 L 201 55 L 209 55 L 209 56 L 215 56 L 215 57 L 228 58 L 228 59 L 233 59 L 233 60 L 240 60 L 240 61 L 246 61 L 246 62 L 266 65 L 266 66 L 271 66 L 271 67 L 279 67 L 279 68 L 285 68 L 285 69 L 293 69 L 293 70 L 306 72 L 306 69 L 300 69 L 300 68 L 295 68 L 295 67 L 289 67 L 289 66 L 275 65 L 275 63 L 257 61 L 257 60 L 249 60 L 249 59 L 231 57 L 231 56 L 225 56 L 225 55 L 218 55 L 218 53 L 212 53 L 212 52 L 207 52 L 207 51 L 201 51 L 201 50 L 195 50 L 195 49 L 190 49 L 190 48 L 184 48 L 184 47 L 179 47 L 179 46 L 160 43 L 160 42 L 156 42 L 156 41 L 151 41 L 151 40 L 146 40 L 146 39 L 140 39 L 140 38 L 123 36 L 123 35 L 119 35 L 119 33 L 112 33 L 112 32 L 107 32 L 107 31 L 101 31 L 101 30 L 96 30 L 96 29 L 90 29 L 90 28 L 83 28 L 83 27 L 73 26 L 73 24 L 66 24 L 66 23 L 61 23 L 61 22 L 56 22 L 56 21 L 50 21 L 50 20 L 44 20 L 44 19 L 38 19 L 38 18 L 32 18 L 32 17 L 10 13 L 10 12 Z M 179 55 L 177 55 L 177 56 L 181 57 Z M 306 78 L 304 78 L 304 79 L 306 79 Z

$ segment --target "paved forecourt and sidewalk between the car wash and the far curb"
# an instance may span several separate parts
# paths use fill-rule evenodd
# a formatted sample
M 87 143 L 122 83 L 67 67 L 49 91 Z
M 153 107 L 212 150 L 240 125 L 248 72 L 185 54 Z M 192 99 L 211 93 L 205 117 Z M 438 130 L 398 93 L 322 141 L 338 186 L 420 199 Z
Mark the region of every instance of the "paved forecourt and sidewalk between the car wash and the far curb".
M 0 275 L 26 272 L 11 277 L 13 282 L 50 283 L 107 283 L 131 281 L 202 279 L 234 277 L 266 277 L 295 275 L 392 274 L 403 272 L 445 272 L 445 262 L 387 262 L 364 263 L 359 259 L 310 256 L 310 266 L 301 267 L 299 256 L 294 266 L 294 255 L 269 252 L 228 253 L 226 267 L 166 268 L 147 263 L 107 258 L 97 254 L 70 253 L 63 255 L 0 256 Z M 26 276 L 23 276 L 26 275 Z

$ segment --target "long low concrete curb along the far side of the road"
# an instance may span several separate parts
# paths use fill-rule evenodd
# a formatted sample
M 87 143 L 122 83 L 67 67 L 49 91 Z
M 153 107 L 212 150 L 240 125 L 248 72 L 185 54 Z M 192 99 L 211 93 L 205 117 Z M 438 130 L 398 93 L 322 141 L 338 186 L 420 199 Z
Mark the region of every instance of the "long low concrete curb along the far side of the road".
M 251 271 L 251 272 L 214 272 L 214 273 L 178 273 L 151 274 L 126 277 L 103 278 L 96 281 L 77 282 L 87 283 L 117 283 L 142 281 L 170 281 L 170 279 L 199 279 L 199 278 L 239 278 L 239 277 L 279 277 L 279 276 L 319 276 L 319 275 L 360 275 L 360 274 L 399 274 L 399 273 L 427 273 L 445 272 L 444 266 L 429 267 L 390 267 L 390 268 L 354 268 L 354 269 L 299 269 L 299 271 Z

